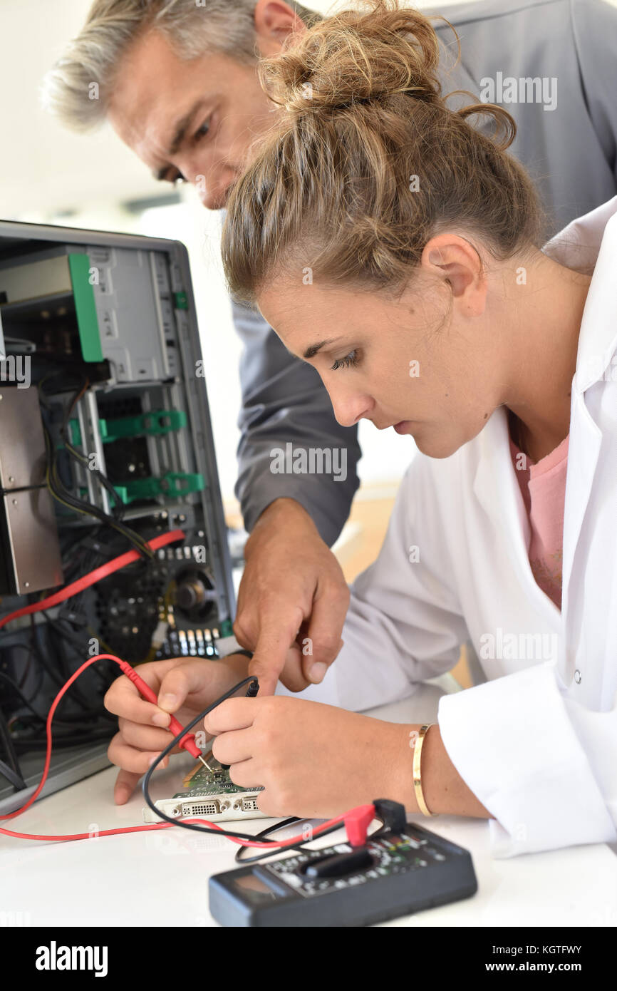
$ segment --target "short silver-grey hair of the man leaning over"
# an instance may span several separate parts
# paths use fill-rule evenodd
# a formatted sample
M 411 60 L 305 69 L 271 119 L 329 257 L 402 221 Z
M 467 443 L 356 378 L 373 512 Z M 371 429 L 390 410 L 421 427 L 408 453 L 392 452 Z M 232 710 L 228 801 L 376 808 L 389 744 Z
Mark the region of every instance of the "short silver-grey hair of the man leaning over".
M 150 29 L 159 31 L 187 61 L 217 52 L 254 64 L 256 2 L 95 0 L 80 34 L 45 77 L 44 106 L 75 131 L 101 124 L 123 56 Z M 286 2 L 308 27 L 321 19 L 295 0 Z

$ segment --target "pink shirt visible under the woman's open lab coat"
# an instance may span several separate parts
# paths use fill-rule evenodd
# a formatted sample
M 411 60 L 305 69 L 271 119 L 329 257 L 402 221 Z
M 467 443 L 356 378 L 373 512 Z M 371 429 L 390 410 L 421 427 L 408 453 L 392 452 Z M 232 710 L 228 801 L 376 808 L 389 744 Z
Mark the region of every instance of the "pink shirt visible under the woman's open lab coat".
M 512 464 L 531 530 L 529 563 L 536 583 L 558 608 L 562 607 L 568 439 L 535 465 L 510 438 Z

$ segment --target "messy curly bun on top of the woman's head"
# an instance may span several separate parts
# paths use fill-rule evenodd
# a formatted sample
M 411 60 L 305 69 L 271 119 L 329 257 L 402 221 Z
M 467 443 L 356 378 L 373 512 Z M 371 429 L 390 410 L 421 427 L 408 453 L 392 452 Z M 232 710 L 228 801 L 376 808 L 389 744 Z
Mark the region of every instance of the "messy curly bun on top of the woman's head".
M 289 113 L 341 110 L 407 93 L 441 102 L 439 43 L 427 17 L 399 0 L 369 0 L 290 36 L 259 66 L 261 83 Z M 366 9 L 367 8 L 367 9 Z

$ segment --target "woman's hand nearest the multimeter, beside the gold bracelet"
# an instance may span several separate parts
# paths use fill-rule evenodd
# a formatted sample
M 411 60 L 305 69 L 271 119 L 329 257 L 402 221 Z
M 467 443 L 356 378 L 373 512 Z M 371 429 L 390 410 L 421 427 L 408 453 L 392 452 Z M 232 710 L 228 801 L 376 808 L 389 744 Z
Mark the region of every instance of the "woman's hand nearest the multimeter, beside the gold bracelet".
M 415 812 L 414 727 L 280 696 L 228 699 L 206 716 L 232 781 L 262 785 L 268 816 L 327 819 L 378 798 Z

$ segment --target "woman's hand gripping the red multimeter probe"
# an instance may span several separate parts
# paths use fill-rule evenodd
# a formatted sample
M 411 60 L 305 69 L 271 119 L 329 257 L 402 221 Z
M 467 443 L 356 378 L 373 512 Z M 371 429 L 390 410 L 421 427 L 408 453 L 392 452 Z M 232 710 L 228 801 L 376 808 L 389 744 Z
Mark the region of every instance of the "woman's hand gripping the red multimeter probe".
M 172 713 L 182 725 L 220 695 L 247 677 L 248 660 L 231 654 L 224 660 L 205 657 L 173 657 L 167 661 L 141 664 L 140 676 L 156 693 L 158 705 L 142 698 L 137 687 L 121 675 L 108 690 L 105 708 L 118 718 L 116 733 L 107 755 L 121 768 L 114 788 L 114 802 L 124 805 L 152 764 L 154 757 L 167 746 L 171 736 L 165 726 Z M 177 751 L 176 747 L 174 752 Z M 161 767 L 165 767 L 165 757 Z

